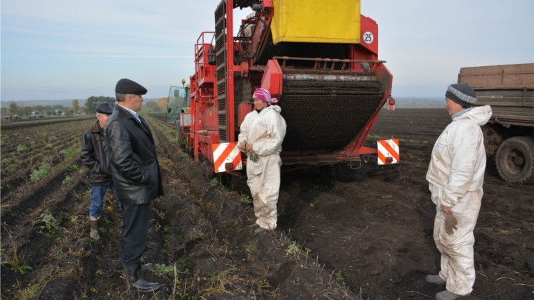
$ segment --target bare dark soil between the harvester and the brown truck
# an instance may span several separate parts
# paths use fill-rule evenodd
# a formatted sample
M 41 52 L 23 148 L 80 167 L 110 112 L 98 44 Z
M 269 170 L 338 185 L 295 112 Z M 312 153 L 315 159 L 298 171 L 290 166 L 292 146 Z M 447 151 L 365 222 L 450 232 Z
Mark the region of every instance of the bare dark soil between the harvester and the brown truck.
M 358 180 L 339 183 L 319 171 L 282 175 L 281 230 L 341 270 L 363 299 L 434 299 L 443 287 L 432 237 L 436 206 L 425 180 L 431 149 L 451 121 L 445 109 L 380 113 L 367 145 L 399 138 L 401 164 L 370 159 Z M 502 181 L 488 158 L 484 197 L 474 230 L 476 282 L 462 299 L 533 299 L 534 186 Z

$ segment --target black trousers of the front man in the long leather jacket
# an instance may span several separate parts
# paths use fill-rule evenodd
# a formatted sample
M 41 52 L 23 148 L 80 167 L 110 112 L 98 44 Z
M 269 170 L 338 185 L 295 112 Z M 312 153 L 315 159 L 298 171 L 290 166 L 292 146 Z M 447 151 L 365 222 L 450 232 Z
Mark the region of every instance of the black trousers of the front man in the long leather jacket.
M 148 203 L 124 204 L 122 216 L 121 252 L 122 262 L 138 264 L 146 249 L 148 231 Z

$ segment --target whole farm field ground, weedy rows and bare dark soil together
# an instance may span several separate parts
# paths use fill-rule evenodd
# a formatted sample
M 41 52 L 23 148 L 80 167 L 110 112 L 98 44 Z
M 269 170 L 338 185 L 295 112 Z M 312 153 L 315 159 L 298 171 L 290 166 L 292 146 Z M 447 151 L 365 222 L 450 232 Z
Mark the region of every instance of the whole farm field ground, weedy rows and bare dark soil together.
M 252 206 L 146 117 L 166 195 L 150 205 L 143 271 L 165 285 L 132 294 L 122 273 L 117 200 L 89 239 L 82 133 L 96 119 L 1 131 L 1 299 L 433 299 L 440 287 L 435 207 L 424 180 L 446 110 L 381 112 L 369 146 L 401 138 L 401 164 L 370 158 L 353 183 L 317 170 L 282 175 L 279 229 L 254 235 Z M 505 184 L 488 159 L 475 229 L 476 284 L 466 299 L 533 299 L 534 188 Z M 43 167 L 46 166 L 46 167 Z M 35 170 L 35 171 L 34 171 Z

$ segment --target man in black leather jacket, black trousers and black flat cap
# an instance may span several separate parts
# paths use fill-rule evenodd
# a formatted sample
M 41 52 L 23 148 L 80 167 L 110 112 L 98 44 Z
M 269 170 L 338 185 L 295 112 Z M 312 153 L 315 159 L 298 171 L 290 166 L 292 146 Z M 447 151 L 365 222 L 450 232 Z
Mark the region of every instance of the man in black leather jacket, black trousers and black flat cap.
M 148 204 L 163 195 L 152 132 L 138 114 L 147 90 L 129 79 L 117 82 L 118 105 L 108 120 L 108 150 L 117 198 L 123 204 L 121 252 L 130 286 L 140 292 L 159 289 L 141 274 L 141 256 L 146 249 Z

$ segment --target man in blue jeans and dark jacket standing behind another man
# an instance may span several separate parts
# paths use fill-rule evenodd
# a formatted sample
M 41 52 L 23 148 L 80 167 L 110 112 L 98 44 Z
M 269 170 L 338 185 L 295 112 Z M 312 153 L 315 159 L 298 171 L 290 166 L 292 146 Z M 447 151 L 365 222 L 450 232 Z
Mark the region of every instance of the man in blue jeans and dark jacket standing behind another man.
M 111 188 L 115 194 L 105 136 L 105 127 L 112 112 L 113 108 L 108 103 L 98 104 L 96 106 L 98 121 L 82 137 L 80 157 L 82 157 L 82 162 L 91 170 L 89 173 L 89 183 L 91 183 L 91 204 L 89 204 L 91 233 L 89 236 L 93 240 L 100 240 L 98 221 L 102 216 L 103 197 L 108 188 Z

